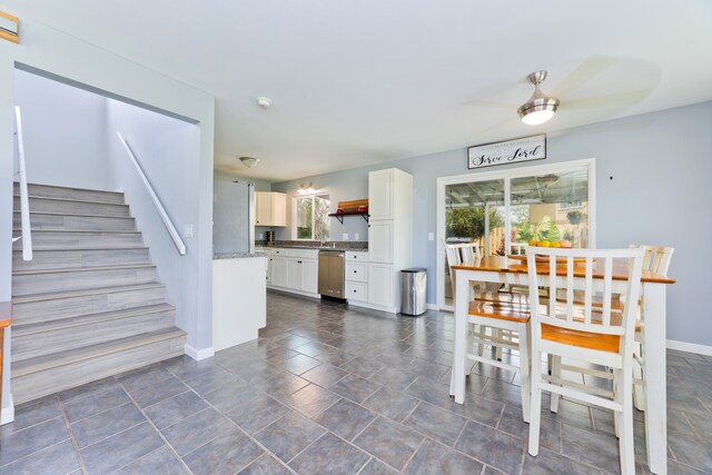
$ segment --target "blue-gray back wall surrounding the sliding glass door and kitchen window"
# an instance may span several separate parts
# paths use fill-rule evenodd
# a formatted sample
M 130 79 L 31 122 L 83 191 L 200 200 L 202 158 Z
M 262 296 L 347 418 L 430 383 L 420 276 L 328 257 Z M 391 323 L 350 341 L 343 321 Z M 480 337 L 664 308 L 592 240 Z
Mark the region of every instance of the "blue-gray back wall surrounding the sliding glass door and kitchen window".
M 550 133 L 546 160 L 538 162 L 596 159 L 597 246 L 673 246 L 670 275 L 678 284 L 668 293 L 668 338 L 701 345 L 712 345 L 704 298 L 712 284 L 706 274 L 712 267 L 706 248 L 712 236 L 710 150 L 712 102 L 703 102 Z M 436 243 L 428 241 L 427 234 L 436 232 L 436 178 L 467 174 L 465 149 L 284 181 L 274 184 L 273 190 L 294 195 L 300 182 L 314 181 L 334 201 L 363 198 L 367 196 L 367 172 L 389 167 L 414 176 L 413 265 L 427 267 L 427 299 L 435 303 Z M 340 237 L 339 226 L 332 222 L 334 239 Z M 365 231 L 363 226 L 350 218 L 344 228 Z M 278 239 L 285 236 L 288 230 L 280 231 Z

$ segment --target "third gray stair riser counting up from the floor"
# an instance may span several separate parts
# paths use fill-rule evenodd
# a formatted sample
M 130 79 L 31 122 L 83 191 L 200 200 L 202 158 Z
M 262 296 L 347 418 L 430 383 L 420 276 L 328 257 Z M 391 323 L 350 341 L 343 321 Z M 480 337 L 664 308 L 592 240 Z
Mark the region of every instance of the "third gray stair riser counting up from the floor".
M 17 324 L 37 324 L 142 305 L 158 305 L 164 301 L 166 301 L 166 289 L 164 287 L 56 298 L 52 300 L 13 304 L 12 319 Z

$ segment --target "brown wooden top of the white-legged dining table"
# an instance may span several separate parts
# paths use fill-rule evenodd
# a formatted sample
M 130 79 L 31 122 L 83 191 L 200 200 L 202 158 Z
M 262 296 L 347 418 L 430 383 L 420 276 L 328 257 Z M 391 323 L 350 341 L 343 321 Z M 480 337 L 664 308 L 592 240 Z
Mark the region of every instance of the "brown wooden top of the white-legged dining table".
M 603 278 L 602 261 L 594 263 L 593 277 Z M 494 273 L 513 273 L 513 274 L 526 274 L 526 261 L 510 259 L 504 256 L 488 256 L 483 257 L 479 260 L 473 263 L 463 263 L 453 266 L 453 269 L 463 270 L 486 270 Z M 537 271 L 541 274 L 548 274 L 548 264 L 537 266 Z M 574 266 L 574 275 L 576 277 L 585 277 L 586 267 L 584 265 Z M 556 275 L 565 276 L 566 266 L 556 266 Z M 613 279 L 627 280 L 627 269 L 624 263 L 619 261 L 613 264 Z M 674 284 L 675 279 L 665 277 L 662 274 L 652 273 L 650 270 L 643 270 L 642 281 L 654 284 Z

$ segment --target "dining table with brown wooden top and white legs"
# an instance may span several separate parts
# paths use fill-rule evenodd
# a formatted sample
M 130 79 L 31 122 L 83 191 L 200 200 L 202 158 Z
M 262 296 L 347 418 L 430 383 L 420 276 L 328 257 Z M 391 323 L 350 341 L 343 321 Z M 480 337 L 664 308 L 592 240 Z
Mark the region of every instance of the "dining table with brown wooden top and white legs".
M 578 268 L 580 267 L 580 268 Z M 602 266 L 601 266 L 602 267 Z M 455 271 L 455 328 L 453 373 L 454 396 L 458 404 L 465 398 L 465 363 L 467 345 L 467 310 L 472 283 L 495 283 L 528 286 L 525 256 L 487 256 L 472 263 L 452 267 Z M 548 275 L 548 264 L 537 269 L 540 275 Z M 566 266 L 556 266 L 557 276 L 566 275 Z M 574 268 L 574 280 L 584 280 L 585 266 Z M 603 279 L 603 269 L 594 265 L 594 279 Z M 641 279 L 642 315 L 644 315 L 643 338 L 645 343 L 645 442 L 647 465 L 654 474 L 668 473 L 668 397 L 665 364 L 665 306 L 668 286 L 675 280 L 651 270 L 643 270 Z M 625 295 L 627 267 L 625 263 L 613 266 L 612 291 Z M 462 356 L 462 357 L 458 357 Z

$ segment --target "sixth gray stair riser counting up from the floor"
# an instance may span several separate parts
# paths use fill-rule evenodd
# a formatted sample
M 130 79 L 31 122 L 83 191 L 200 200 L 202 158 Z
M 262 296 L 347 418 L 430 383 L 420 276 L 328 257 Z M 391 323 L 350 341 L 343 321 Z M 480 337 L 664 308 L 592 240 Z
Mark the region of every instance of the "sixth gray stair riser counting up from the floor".
M 13 236 L 20 236 L 14 230 Z M 144 245 L 139 234 L 117 232 L 71 232 L 71 231 L 38 231 L 32 232 L 32 250 L 53 249 L 107 249 L 120 247 L 140 247 Z M 22 249 L 22 240 L 12 244 L 13 250 Z

